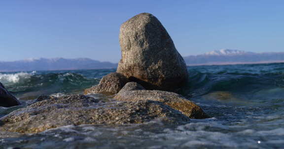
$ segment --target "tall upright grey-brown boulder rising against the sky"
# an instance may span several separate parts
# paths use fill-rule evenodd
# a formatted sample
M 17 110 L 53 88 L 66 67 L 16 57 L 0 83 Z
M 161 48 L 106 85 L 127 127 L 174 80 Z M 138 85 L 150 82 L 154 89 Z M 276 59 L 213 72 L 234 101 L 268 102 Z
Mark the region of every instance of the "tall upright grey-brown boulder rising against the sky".
M 174 91 L 188 78 L 185 62 L 160 21 L 141 13 L 123 23 L 117 73 L 146 89 Z

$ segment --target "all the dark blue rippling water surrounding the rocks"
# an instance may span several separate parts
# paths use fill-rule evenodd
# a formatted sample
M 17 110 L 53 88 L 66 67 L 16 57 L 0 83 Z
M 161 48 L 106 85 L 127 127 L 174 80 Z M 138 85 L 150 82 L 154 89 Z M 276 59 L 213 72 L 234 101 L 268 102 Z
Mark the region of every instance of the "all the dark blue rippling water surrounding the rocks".
M 41 94 L 82 93 L 114 69 L 0 73 L 23 103 Z M 0 149 L 275 149 L 284 146 L 284 63 L 191 66 L 179 92 L 212 116 L 168 126 L 63 126 L 26 136 L 0 135 Z M 20 108 L 0 108 L 0 115 Z

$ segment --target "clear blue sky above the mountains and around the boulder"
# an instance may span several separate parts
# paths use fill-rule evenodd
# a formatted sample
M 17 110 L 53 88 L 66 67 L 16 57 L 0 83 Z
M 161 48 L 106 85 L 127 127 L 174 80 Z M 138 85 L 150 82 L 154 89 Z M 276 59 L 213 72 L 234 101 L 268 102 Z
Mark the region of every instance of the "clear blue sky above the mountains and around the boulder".
M 0 61 L 118 62 L 119 27 L 142 12 L 160 20 L 182 56 L 284 51 L 284 0 L 0 0 Z

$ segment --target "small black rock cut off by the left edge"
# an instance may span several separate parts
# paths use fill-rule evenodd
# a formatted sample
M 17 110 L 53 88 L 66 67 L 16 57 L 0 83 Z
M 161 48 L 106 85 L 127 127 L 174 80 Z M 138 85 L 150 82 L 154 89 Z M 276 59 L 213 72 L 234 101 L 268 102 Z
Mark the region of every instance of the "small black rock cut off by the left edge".
M 20 105 L 19 100 L 9 93 L 0 82 L 0 106 L 11 107 L 16 105 Z

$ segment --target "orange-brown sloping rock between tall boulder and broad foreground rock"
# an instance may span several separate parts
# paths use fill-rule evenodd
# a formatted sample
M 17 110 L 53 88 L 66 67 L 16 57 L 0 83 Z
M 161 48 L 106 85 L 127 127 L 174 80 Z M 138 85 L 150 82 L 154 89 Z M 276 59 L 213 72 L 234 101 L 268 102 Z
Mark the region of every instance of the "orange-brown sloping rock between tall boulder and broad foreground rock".
M 136 82 L 127 83 L 114 97 L 120 101 L 141 101 L 154 100 L 163 102 L 173 109 L 193 119 L 206 119 L 209 116 L 194 102 L 183 98 L 182 96 L 166 91 L 145 90 Z

